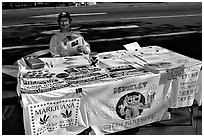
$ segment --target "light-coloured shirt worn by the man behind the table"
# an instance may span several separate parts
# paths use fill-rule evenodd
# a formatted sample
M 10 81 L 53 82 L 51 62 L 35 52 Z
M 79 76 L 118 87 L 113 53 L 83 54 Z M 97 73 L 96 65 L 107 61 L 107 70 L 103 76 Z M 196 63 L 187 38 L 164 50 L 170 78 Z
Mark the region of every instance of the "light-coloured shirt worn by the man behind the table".
M 77 51 L 77 45 L 85 46 L 87 54 L 90 52 L 90 46 L 81 34 L 58 32 L 50 40 L 50 52 L 53 57 L 80 55 L 81 53 Z

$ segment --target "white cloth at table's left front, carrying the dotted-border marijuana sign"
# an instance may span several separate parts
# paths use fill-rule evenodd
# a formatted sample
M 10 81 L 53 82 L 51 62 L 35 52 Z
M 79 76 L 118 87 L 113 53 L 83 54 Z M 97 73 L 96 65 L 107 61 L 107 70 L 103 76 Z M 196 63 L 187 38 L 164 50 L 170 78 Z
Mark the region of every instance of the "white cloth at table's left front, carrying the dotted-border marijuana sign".
M 82 92 L 78 88 L 22 94 L 26 134 L 75 135 L 88 128 Z

